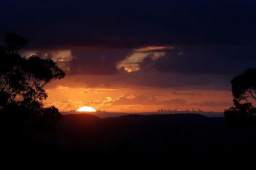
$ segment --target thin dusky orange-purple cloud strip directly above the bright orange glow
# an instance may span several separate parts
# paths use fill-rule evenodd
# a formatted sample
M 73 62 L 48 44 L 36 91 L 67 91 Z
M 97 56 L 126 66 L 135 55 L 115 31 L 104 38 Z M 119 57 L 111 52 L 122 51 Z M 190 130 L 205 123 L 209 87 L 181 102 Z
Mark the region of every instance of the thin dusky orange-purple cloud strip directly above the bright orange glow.
M 72 75 L 53 81 L 47 88 L 57 86 L 83 88 L 173 88 L 177 90 L 211 89 L 230 90 L 231 76 L 221 75 L 172 75 L 140 74 L 132 72 L 125 75 Z

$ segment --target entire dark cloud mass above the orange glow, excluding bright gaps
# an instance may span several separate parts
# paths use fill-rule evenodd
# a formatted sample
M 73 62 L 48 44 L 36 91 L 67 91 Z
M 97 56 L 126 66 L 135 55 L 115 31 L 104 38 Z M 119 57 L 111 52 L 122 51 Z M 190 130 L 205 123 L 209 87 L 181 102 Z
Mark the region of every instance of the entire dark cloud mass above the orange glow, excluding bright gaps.
M 232 76 L 256 65 L 255 9 L 249 0 L 4 0 L 0 39 L 14 32 L 30 40 L 28 50 L 70 49 L 68 75 L 106 75 L 79 77 L 74 86 L 229 89 Z M 116 69 L 131 50 L 149 45 L 175 50 L 155 50 L 166 54 L 148 55 L 138 72 Z

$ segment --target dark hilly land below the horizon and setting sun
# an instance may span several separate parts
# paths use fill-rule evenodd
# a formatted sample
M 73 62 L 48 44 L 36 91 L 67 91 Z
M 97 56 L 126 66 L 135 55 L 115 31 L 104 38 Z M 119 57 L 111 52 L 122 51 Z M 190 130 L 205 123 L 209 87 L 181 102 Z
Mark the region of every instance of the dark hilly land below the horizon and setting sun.
M 225 118 L 199 114 L 125 115 L 110 118 L 70 114 L 63 115 L 56 127 L 56 134 L 37 137 L 33 152 L 51 156 L 98 158 L 215 157 L 218 161 L 255 153 L 255 141 L 254 127 L 230 128 Z

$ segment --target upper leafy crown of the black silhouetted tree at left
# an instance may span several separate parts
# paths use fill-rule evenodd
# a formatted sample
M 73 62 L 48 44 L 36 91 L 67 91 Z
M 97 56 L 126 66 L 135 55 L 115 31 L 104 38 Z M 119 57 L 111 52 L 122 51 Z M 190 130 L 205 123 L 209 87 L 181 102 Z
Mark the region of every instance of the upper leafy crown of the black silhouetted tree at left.
M 46 99 L 44 86 L 53 79 L 62 79 L 65 72 L 51 59 L 20 56 L 18 51 L 27 44 L 26 39 L 9 33 L 5 42 L 0 53 L 0 93 L 5 99 L 0 106 Z

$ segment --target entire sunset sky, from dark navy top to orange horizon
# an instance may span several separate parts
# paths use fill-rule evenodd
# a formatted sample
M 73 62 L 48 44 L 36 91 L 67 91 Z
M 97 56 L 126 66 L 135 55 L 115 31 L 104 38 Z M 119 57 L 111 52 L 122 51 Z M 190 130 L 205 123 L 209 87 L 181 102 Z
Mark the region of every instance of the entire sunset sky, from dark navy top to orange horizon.
M 0 43 L 53 59 L 66 77 L 46 106 L 113 112 L 232 106 L 230 80 L 256 66 L 255 1 L 1 1 Z

